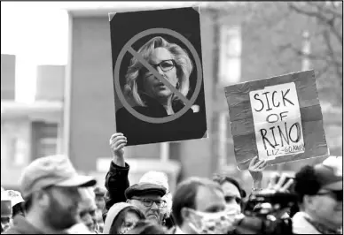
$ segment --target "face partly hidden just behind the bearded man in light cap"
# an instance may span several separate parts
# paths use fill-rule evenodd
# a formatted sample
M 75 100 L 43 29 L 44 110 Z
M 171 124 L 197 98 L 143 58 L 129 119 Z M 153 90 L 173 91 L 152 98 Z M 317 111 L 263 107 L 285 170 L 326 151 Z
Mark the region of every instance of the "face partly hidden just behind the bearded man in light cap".
M 96 214 L 97 205 L 96 205 L 96 195 L 93 192 L 92 188 L 81 188 L 79 189 L 82 194 L 82 200 L 79 201 L 79 216 L 82 220 L 82 223 L 90 231 L 96 231 L 98 228 L 98 218 Z

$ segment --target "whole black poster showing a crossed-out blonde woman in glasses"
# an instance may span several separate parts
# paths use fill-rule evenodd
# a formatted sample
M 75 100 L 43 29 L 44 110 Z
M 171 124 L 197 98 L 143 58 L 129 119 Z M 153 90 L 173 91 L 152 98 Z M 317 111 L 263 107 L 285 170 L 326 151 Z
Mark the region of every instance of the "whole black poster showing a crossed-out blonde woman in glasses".
M 207 136 L 198 9 L 109 19 L 116 132 L 128 146 Z

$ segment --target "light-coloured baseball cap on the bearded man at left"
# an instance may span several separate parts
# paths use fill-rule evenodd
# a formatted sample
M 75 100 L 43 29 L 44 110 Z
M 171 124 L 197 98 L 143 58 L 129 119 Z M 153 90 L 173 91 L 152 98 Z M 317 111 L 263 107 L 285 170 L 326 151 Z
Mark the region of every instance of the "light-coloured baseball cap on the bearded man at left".
M 66 155 L 49 155 L 35 159 L 23 171 L 20 188 L 24 198 L 47 186 L 94 186 L 97 181 L 79 175 Z

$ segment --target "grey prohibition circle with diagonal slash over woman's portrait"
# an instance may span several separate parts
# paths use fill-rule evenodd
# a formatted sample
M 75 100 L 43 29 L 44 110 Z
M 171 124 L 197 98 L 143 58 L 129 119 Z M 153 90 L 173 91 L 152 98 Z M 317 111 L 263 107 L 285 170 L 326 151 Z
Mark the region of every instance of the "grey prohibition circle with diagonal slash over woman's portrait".
M 145 61 L 145 58 L 142 57 L 140 54 L 137 53 L 135 49 L 131 47 L 131 45 L 134 42 L 137 42 L 142 37 L 145 37 L 150 34 L 168 34 L 176 37 L 180 41 L 184 42 L 186 47 L 190 49 L 192 52 L 192 56 L 195 59 L 196 68 L 197 68 L 197 83 L 195 90 L 193 92 L 192 98 L 190 100 L 186 99 L 184 95 L 182 95 L 175 87 L 173 87 L 168 80 L 163 78 L 160 73 L 155 70 L 151 64 Z M 145 66 L 147 70 L 152 72 L 152 74 L 159 79 L 166 87 L 168 87 L 175 95 L 177 95 L 184 103 L 185 106 L 182 110 L 179 110 L 174 115 L 168 116 L 168 117 L 147 117 L 139 112 L 137 110 L 134 110 L 129 102 L 127 102 L 126 98 L 124 97 L 122 91 L 121 91 L 121 85 L 120 85 L 120 68 L 121 68 L 121 61 L 124 57 L 124 55 L 127 53 L 127 51 L 133 56 L 136 57 L 137 60 Z M 200 64 L 199 54 L 197 53 L 196 49 L 193 47 L 192 43 L 189 42 L 182 34 L 177 33 L 174 30 L 167 29 L 167 28 L 151 28 L 148 30 L 145 30 L 141 33 L 136 34 L 134 37 L 132 37 L 129 42 L 127 42 L 123 48 L 121 49 L 120 54 L 117 57 L 116 64 L 114 66 L 113 71 L 113 81 L 114 81 L 114 87 L 116 89 L 117 95 L 121 100 L 121 104 L 124 106 L 125 109 L 127 109 L 133 116 L 137 117 L 138 119 L 148 122 L 148 123 L 167 123 L 170 121 L 175 120 L 178 117 L 181 117 L 184 115 L 184 113 L 189 110 L 192 107 L 192 104 L 196 101 L 197 96 L 199 95 L 200 87 L 202 85 L 202 65 Z

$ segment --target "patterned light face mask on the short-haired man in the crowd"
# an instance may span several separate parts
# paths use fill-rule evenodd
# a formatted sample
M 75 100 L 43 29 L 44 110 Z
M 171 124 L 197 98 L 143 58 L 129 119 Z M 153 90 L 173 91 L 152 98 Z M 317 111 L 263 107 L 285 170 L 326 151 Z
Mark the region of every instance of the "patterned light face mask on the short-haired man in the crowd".
M 216 213 L 200 212 L 191 209 L 194 218 L 188 223 L 193 231 L 199 234 L 227 234 L 233 230 L 232 224 L 238 213 L 236 211 L 221 211 Z

